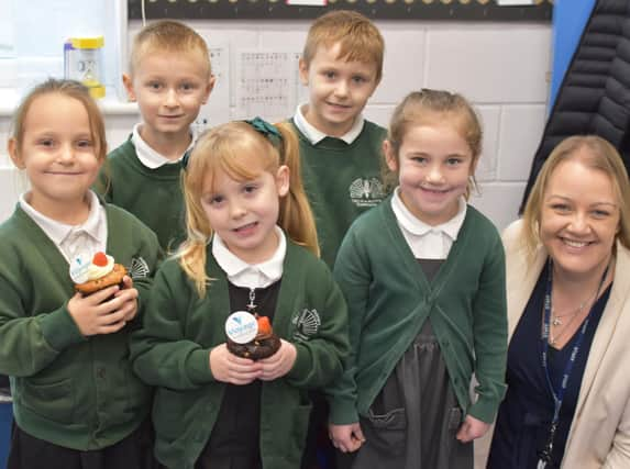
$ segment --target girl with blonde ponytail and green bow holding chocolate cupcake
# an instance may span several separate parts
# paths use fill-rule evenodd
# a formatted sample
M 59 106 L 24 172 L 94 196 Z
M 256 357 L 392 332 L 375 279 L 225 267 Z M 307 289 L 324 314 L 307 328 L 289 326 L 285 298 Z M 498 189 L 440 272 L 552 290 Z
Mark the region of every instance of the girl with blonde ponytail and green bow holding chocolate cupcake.
M 132 344 L 135 371 L 157 388 L 155 454 L 170 469 L 295 469 L 308 390 L 341 375 L 349 346 L 297 137 L 288 123 L 232 122 L 201 135 L 185 165 L 188 239 L 157 273 Z M 248 313 L 279 337 L 267 358 L 228 347 L 252 338 L 232 335 L 255 324 Z

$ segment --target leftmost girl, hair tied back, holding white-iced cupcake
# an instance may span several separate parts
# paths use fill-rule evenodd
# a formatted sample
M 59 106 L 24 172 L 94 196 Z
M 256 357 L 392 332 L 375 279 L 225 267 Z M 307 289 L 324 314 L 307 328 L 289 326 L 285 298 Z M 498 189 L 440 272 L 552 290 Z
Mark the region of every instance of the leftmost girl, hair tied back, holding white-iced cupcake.
M 35 87 L 8 150 L 30 182 L 0 225 L 0 372 L 11 377 L 15 422 L 8 469 L 151 468 L 151 394 L 131 371 L 128 336 L 161 250 L 151 230 L 90 190 L 107 144 L 87 88 Z M 75 290 L 110 275 L 114 259 L 126 270 L 115 284 Z M 100 273 L 90 277 L 92 264 Z

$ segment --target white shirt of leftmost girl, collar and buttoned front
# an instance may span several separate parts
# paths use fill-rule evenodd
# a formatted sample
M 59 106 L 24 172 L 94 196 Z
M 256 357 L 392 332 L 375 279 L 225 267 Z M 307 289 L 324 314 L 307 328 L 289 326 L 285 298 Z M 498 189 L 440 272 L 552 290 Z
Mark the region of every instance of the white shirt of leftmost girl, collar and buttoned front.
M 90 212 L 80 225 L 57 222 L 40 212 L 26 201 L 29 193 L 20 196 L 20 208 L 42 228 L 57 246 L 64 258 L 70 264 L 79 254 L 92 256 L 107 248 L 107 214 L 104 206 L 91 190 L 89 193 Z

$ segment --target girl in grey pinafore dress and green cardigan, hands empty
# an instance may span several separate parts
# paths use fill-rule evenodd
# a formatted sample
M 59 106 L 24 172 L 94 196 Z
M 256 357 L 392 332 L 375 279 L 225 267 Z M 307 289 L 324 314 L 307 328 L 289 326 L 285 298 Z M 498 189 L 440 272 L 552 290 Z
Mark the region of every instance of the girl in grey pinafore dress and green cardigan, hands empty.
M 330 390 L 344 465 L 472 469 L 502 398 L 504 250 L 466 203 L 480 141 L 458 94 L 424 89 L 394 112 L 384 154 L 398 187 L 352 225 L 334 268 L 352 347 Z

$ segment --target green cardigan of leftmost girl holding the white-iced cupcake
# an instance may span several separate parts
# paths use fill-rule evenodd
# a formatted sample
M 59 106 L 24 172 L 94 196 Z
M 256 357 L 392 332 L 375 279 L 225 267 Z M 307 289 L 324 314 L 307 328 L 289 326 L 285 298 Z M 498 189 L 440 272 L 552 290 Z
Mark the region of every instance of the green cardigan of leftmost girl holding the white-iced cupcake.
M 141 309 L 158 261 L 157 238 L 125 211 L 106 210 L 107 252 L 131 268 Z M 19 205 L 0 225 L 0 372 L 11 376 L 16 424 L 78 450 L 126 437 L 151 403 L 129 361 L 135 321 L 114 334 L 84 337 L 67 310 L 74 294 L 68 263 Z

